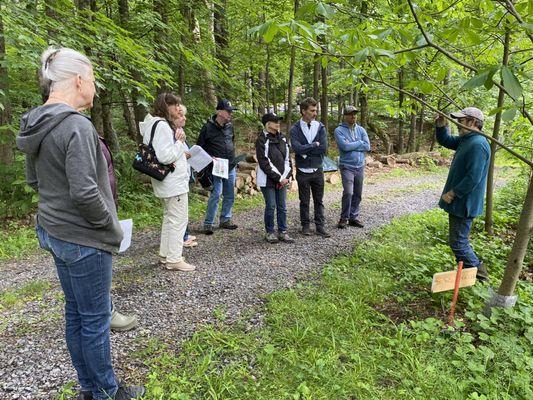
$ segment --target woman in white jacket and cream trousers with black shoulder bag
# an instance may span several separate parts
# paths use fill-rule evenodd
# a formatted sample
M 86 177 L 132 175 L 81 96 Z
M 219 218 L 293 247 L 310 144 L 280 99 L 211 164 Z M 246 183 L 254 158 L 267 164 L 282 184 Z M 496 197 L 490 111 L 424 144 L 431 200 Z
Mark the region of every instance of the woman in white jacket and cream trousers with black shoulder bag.
M 139 124 L 143 142 L 150 142 L 152 127 L 156 125 L 152 146 L 162 164 L 174 164 L 174 171 L 163 181 L 152 179 L 156 197 L 163 203 L 160 262 L 169 270 L 194 271 L 196 267 L 183 259 L 183 235 L 188 223 L 189 166 L 183 129 L 175 129 L 180 116 L 181 99 L 172 93 L 161 93 L 154 103 L 153 115 L 148 114 Z

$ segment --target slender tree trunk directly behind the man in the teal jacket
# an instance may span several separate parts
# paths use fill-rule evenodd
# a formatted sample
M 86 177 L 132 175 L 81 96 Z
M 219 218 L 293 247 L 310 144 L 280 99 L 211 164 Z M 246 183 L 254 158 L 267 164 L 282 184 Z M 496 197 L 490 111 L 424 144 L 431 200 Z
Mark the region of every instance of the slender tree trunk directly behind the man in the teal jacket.
M 511 38 L 511 32 L 510 29 L 507 27 L 505 30 L 505 39 L 504 39 L 504 45 L 503 45 L 503 61 L 502 64 L 504 66 L 507 66 L 509 64 L 509 42 Z M 503 87 L 503 80 L 501 81 L 502 87 Z M 496 116 L 494 118 L 494 127 L 492 129 L 492 137 L 494 139 L 499 139 L 500 137 L 500 125 L 502 122 L 502 111 L 501 108 L 503 106 L 503 102 L 505 99 L 505 93 L 500 88 L 500 91 L 498 93 L 498 103 L 496 105 L 497 109 L 499 110 L 496 113 Z M 492 217 L 492 211 L 493 211 L 493 198 L 494 198 L 494 162 L 496 159 L 496 150 L 498 148 L 498 145 L 494 142 L 490 143 L 490 162 L 489 162 L 489 172 L 487 176 L 487 198 L 485 203 L 485 231 L 489 235 L 494 234 L 493 230 L 493 217 Z

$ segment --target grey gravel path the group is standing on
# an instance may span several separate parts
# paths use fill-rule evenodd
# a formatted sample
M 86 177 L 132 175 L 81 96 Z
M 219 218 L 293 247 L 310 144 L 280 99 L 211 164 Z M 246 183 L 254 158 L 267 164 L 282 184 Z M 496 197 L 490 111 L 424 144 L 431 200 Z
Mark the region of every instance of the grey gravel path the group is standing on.
M 137 233 L 132 247 L 114 263 L 114 303 L 141 321 L 133 331 L 112 334 L 117 375 L 143 376 L 146 367 L 135 350 L 150 339 L 178 346 L 199 326 L 216 321 L 217 313 L 223 312 L 232 322 L 255 310 L 249 323 L 260 323 L 258 306 L 265 294 L 309 278 L 331 257 L 351 250 L 355 242 L 394 217 L 434 207 L 444 180 L 444 175 L 434 174 L 366 184 L 364 229 L 335 227 L 341 189 L 327 191 L 330 239 L 297 233 L 296 200 L 287 204 L 289 233 L 296 238 L 291 245 L 264 242 L 261 208 L 240 213 L 234 217 L 238 230 L 197 235 L 199 246 L 185 254 L 198 266 L 193 273 L 162 269 L 157 264 L 159 232 Z M 13 261 L 2 267 L 1 274 L 0 291 L 37 280 L 50 287 L 42 298 L 0 308 L 0 399 L 53 399 L 76 377 L 63 337 L 63 300 L 51 257 L 43 252 L 31 260 Z

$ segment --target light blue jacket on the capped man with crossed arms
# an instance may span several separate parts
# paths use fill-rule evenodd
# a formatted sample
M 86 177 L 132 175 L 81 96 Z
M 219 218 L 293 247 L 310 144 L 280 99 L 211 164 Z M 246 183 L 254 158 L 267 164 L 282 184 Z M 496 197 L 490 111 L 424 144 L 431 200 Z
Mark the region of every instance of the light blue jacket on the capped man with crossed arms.
M 364 167 L 365 152 L 370 151 L 368 135 L 361 125 L 355 124 L 354 131 L 346 123 L 335 129 L 335 140 L 339 148 L 339 164 L 353 168 Z

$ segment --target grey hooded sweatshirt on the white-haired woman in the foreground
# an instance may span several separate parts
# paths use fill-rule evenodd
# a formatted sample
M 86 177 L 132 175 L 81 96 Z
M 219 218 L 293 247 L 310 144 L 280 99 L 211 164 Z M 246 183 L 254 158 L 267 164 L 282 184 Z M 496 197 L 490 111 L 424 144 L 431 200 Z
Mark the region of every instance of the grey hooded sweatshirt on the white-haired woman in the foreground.
M 57 239 L 118 251 L 122 230 L 90 119 L 66 104 L 36 107 L 22 116 L 17 146 L 39 193 L 37 223 Z

